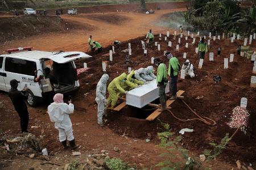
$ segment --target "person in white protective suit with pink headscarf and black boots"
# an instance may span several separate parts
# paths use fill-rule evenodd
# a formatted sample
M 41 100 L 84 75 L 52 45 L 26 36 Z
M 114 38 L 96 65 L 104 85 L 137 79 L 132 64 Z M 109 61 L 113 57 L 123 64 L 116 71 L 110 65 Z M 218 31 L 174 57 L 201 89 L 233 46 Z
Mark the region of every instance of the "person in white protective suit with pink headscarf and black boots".
M 69 118 L 69 114 L 74 112 L 74 105 L 71 100 L 69 104 L 64 103 L 63 94 L 56 94 L 53 97 L 53 103 L 48 106 L 49 118 L 52 122 L 55 122 L 55 128 L 59 130 L 59 140 L 67 149 L 67 140 L 71 146 L 71 149 L 75 149 L 79 146 L 75 144 L 75 138 L 73 136 L 72 122 Z

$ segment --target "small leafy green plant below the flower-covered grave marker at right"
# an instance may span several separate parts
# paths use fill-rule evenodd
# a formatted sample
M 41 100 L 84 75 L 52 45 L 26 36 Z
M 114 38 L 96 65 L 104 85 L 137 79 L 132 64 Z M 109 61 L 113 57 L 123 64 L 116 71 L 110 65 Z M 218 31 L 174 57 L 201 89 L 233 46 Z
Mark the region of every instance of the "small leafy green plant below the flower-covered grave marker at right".
M 211 146 L 213 146 L 213 151 L 205 150 L 204 155 L 207 156 L 207 162 L 210 159 L 215 159 L 218 155 L 221 154 L 221 152 L 226 148 L 226 145 L 230 141 L 231 138 L 229 138 L 229 134 L 227 133 L 224 138 L 221 139 L 220 145 L 217 143 L 209 143 Z

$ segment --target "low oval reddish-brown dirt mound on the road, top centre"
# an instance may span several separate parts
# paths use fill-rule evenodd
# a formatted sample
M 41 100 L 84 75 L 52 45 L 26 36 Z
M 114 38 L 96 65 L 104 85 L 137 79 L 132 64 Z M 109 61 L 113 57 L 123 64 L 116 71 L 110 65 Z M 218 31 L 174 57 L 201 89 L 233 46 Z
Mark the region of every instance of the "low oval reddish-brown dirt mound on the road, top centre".
M 98 21 L 110 23 L 110 24 L 121 24 L 129 19 L 126 16 L 115 15 L 115 14 L 93 14 L 93 15 L 86 15 L 86 18 L 98 20 Z

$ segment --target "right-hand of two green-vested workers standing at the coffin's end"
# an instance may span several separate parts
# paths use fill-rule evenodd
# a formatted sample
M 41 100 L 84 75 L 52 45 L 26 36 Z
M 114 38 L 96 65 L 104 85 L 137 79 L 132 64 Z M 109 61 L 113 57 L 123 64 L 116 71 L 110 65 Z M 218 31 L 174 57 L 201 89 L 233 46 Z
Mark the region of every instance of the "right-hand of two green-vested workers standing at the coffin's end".
M 168 75 L 171 76 L 171 81 L 170 81 L 170 92 L 172 94 L 172 97 L 170 100 L 176 100 L 177 99 L 177 75 L 178 71 L 180 70 L 180 64 L 179 60 L 172 56 L 169 55 L 170 60 L 169 60 L 169 67 L 168 67 Z

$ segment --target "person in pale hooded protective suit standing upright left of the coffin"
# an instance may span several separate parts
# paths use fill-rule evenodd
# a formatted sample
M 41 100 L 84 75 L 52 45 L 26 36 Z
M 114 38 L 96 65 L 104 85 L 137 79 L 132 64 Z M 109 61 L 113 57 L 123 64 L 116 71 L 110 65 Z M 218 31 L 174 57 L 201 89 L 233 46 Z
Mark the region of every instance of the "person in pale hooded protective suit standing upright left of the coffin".
M 109 75 L 108 74 L 104 74 L 101 76 L 100 81 L 97 84 L 97 88 L 96 88 L 96 103 L 98 104 L 98 125 L 100 125 L 101 127 L 103 127 L 103 122 L 102 122 L 102 117 L 104 114 L 104 110 L 105 110 L 105 105 L 107 103 L 106 100 L 106 84 L 109 80 Z

